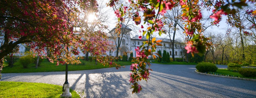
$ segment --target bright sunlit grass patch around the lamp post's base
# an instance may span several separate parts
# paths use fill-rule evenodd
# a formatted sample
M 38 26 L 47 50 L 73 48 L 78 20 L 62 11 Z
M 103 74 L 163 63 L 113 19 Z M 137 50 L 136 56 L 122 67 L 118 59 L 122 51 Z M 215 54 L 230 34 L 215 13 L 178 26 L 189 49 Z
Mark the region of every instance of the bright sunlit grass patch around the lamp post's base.
M 70 89 L 72 98 L 80 96 Z M 45 83 L 0 81 L 0 98 L 60 98 L 62 86 Z

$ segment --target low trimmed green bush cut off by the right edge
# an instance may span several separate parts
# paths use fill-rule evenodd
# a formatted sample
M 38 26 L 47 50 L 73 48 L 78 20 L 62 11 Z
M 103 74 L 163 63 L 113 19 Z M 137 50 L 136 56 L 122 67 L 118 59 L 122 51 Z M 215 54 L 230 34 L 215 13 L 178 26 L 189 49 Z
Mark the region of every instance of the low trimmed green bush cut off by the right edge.
M 244 77 L 256 77 L 256 69 L 255 68 L 241 68 L 239 73 Z

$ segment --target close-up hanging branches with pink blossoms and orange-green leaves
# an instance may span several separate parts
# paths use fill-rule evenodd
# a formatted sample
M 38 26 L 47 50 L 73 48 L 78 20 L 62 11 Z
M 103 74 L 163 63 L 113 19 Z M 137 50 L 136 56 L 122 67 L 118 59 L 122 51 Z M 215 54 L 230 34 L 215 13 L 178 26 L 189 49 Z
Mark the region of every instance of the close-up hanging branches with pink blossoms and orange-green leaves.
M 114 2 L 118 2 L 119 0 L 110 0 L 109 4 L 111 7 L 115 4 Z M 255 0 L 251 0 L 250 2 L 254 2 Z M 185 49 L 187 53 L 191 52 L 192 56 L 194 53 L 198 53 L 198 55 L 203 55 L 206 46 L 210 45 L 207 42 L 208 38 L 202 35 L 202 24 L 200 20 L 202 20 L 202 13 L 200 11 L 200 6 L 207 7 L 208 9 L 213 8 L 213 14 L 210 18 L 214 19 L 213 24 L 219 23 L 221 20 L 221 15 L 228 15 L 232 12 L 233 7 L 241 7 L 246 6 L 246 1 L 239 0 L 239 1 L 224 1 L 224 0 L 217 0 L 217 1 L 208 1 L 202 0 L 202 4 L 199 4 L 199 0 L 129 0 L 130 2 L 130 9 L 137 10 L 133 13 L 133 18 L 135 24 L 139 25 L 142 21 L 144 24 L 147 24 L 148 27 L 147 31 L 143 31 L 143 35 L 146 34 L 146 38 L 148 39 L 144 44 L 140 47 L 135 49 L 136 51 L 136 58 L 134 58 L 134 64 L 131 65 L 131 74 L 130 74 L 130 83 L 131 88 L 133 88 L 133 93 L 140 92 L 142 87 L 138 84 L 140 80 L 148 80 L 149 78 L 149 67 L 151 66 L 148 62 L 148 56 L 153 55 L 156 58 L 157 53 L 155 52 L 156 45 L 161 45 L 159 42 L 161 40 L 156 40 L 155 38 L 150 39 L 150 36 L 154 33 L 158 33 L 161 35 L 163 33 L 163 22 L 160 16 L 166 13 L 166 10 L 172 10 L 174 5 L 179 2 L 181 9 L 182 9 L 182 19 L 185 22 L 184 25 L 184 33 L 191 37 L 191 39 L 187 42 L 187 46 Z M 125 9 L 126 10 L 126 9 Z M 118 24 L 122 22 L 122 16 L 124 9 L 119 9 L 116 12 L 120 12 L 120 15 L 117 15 L 119 18 Z M 138 12 L 143 12 L 143 14 L 139 14 Z M 256 11 L 254 11 L 256 13 Z M 143 28 L 143 26 L 141 27 Z M 118 28 L 117 28 L 118 30 Z M 197 34 L 195 32 L 198 32 Z M 142 38 L 141 36 L 139 37 Z M 149 67 L 147 67 L 147 65 Z

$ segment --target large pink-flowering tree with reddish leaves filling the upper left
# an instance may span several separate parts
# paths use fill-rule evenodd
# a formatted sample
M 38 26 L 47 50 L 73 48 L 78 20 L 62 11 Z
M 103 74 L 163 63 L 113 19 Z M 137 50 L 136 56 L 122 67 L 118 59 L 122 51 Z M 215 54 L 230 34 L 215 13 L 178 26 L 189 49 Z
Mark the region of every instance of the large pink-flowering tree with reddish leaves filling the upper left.
M 4 37 L 0 47 L 0 73 L 4 56 L 13 53 L 18 44 L 30 45 L 32 51 L 51 52 L 47 58 L 59 63 L 80 63 L 75 59 L 79 49 L 100 56 L 108 48 L 108 42 L 102 29 L 94 32 L 81 28 L 73 31 L 74 26 L 83 26 L 81 14 L 97 11 L 96 1 L 87 0 L 7 0 L 0 1 L 0 29 Z M 104 27 L 104 26 L 101 26 Z M 100 57 L 98 57 L 100 59 Z M 101 58 L 106 59 L 106 58 Z M 112 62 L 99 60 L 104 64 Z M 118 66 L 117 66 L 118 68 Z

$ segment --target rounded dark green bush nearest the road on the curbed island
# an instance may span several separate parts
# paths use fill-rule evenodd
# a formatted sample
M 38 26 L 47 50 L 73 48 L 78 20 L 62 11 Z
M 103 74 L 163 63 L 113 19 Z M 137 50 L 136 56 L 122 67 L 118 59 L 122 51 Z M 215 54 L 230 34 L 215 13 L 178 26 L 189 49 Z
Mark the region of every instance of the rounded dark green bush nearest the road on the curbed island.
M 216 72 L 218 67 L 213 63 L 201 62 L 196 65 L 196 69 L 199 72 Z

